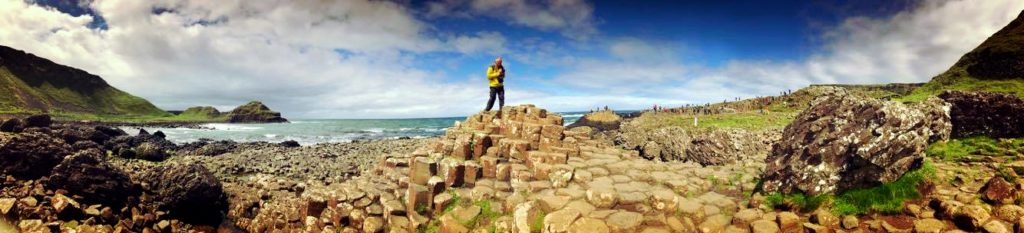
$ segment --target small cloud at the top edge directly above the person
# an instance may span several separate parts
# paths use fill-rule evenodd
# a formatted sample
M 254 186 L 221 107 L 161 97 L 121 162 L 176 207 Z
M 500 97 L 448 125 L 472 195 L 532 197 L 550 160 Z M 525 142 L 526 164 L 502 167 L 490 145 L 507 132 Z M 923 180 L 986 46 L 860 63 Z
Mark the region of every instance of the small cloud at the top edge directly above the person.
M 585 0 L 440 0 L 427 3 L 428 16 L 484 16 L 511 25 L 557 31 L 573 39 L 597 33 L 594 7 Z

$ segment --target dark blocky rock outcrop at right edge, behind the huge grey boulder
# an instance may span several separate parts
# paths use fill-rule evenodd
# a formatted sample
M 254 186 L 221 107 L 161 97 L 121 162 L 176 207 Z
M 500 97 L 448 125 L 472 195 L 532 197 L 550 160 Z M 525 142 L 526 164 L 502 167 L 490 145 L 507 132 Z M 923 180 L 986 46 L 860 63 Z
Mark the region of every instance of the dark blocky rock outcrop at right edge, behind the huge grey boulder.
M 952 137 L 1024 137 L 1024 100 L 1017 96 L 946 91 L 939 97 L 952 104 L 949 110 Z

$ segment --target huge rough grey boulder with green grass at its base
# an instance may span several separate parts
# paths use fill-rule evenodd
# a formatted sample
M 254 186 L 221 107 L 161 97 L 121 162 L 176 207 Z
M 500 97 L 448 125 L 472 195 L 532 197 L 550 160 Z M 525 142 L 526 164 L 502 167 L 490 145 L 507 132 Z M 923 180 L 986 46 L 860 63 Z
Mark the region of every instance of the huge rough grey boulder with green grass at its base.
M 892 182 L 920 165 L 929 126 L 942 125 L 926 112 L 842 90 L 818 97 L 773 146 L 764 191 L 816 195 Z

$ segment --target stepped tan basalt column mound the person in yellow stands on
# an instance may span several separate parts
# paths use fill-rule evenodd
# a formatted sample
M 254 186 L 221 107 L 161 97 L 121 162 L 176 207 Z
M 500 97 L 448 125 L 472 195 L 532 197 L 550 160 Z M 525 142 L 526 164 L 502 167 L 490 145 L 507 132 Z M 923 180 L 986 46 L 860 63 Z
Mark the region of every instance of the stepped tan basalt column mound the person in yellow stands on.
M 750 228 L 762 212 L 740 211 L 746 204 L 713 191 L 714 180 L 752 190 L 754 177 L 734 172 L 762 166 L 651 161 L 520 105 L 471 115 L 426 147 L 299 198 L 234 196 L 228 216 L 250 232 L 718 232 Z

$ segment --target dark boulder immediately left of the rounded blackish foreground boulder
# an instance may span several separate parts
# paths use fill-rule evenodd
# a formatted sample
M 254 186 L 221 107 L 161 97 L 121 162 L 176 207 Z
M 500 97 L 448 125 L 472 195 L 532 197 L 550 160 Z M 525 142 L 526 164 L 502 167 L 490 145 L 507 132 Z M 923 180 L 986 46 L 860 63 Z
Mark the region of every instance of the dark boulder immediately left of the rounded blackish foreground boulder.
M 87 203 L 101 203 L 115 208 L 124 205 L 135 193 L 128 175 L 103 159 L 98 149 L 86 149 L 68 156 L 45 183 L 49 189 L 65 189 L 82 196 Z

